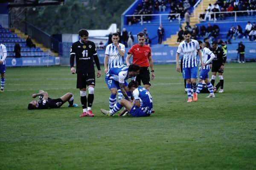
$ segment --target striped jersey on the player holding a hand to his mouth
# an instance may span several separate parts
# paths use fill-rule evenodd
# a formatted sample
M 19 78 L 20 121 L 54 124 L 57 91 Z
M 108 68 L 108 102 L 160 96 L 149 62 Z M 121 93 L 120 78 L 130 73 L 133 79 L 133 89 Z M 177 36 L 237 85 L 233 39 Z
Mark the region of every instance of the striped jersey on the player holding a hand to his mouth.
M 121 51 L 125 52 L 125 45 L 118 43 L 118 46 Z M 115 65 L 122 65 L 124 63 L 124 57 L 119 54 L 113 43 L 107 45 L 105 55 L 108 56 L 108 70 Z

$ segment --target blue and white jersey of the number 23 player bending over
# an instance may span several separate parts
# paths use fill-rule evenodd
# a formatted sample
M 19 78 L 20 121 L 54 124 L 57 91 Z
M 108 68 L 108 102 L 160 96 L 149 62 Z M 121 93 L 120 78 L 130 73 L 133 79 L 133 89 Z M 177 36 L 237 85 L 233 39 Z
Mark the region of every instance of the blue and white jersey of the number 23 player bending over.
M 127 65 L 116 65 L 109 69 L 106 73 L 108 79 L 113 79 L 119 84 L 124 84 L 125 81 L 129 78 L 136 79 L 136 77 L 131 77 L 128 75 L 128 66 Z

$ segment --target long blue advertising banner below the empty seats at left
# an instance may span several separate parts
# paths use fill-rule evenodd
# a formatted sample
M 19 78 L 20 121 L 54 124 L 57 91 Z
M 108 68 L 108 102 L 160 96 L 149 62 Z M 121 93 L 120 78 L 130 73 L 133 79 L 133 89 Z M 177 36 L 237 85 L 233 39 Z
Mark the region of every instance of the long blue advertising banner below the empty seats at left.
M 6 67 L 60 65 L 60 57 L 6 58 Z

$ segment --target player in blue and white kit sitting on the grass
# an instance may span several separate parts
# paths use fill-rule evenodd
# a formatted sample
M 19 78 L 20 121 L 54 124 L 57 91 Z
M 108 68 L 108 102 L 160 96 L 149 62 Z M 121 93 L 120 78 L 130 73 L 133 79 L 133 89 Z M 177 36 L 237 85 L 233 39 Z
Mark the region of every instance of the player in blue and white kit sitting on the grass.
M 119 100 L 111 111 L 106 111 L 101 109 L 101 112 L 107 116 L 113 116 L 114 113 L 120 111 L 122 106 L 124 106 L 134 117 L 143 117 L 143 116 L 150 116 L 153 102 L 152 97 L 149 92 L 139 86 L 137 81 L 131 81 L 128 84 L 128 89 L 132 92 L 134 96 L 134 101 L 129 102 L 126 99 Z M 119 114 L 119 116 L 123 116 L 125 111 Z

